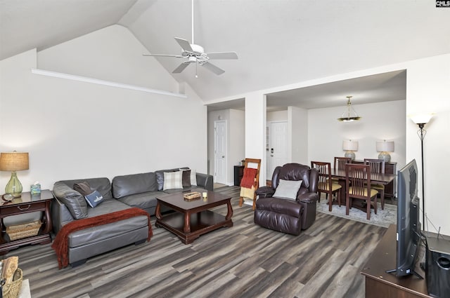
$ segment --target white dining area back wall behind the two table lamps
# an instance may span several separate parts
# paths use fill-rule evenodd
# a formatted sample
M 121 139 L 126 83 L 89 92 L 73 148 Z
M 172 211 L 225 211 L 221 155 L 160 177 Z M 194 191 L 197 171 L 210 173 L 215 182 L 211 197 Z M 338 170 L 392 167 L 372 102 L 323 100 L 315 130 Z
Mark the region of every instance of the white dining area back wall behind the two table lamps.
M 309 161 L 329 161 L 334 156 L 344 156 L 343 140 L 357 140 L 359 149 L 356 159 L 378 158 L 375 142 L 393 140 L 394 152 L 391 161 L 397 168 L 405 165 L 405 100 L 379 102 L 375 104 L 352 104 L 360 121 L 340 122 L 342 107 L 309 109 L 308 152 Z

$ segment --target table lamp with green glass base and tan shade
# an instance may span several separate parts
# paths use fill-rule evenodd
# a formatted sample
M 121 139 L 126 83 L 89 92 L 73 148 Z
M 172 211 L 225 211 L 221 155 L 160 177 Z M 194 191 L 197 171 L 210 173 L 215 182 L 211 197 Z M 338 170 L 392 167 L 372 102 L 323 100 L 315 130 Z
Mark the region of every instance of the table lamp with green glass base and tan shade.
M 14 198 L 19 198 L 22 195 L 22 184 L 20 184 L 15 171 L 28 170 L 28 153 L 1 152 L 0 170 L 11 171 L 11 179 L 6 184 L 5 193 L 12 194 Z

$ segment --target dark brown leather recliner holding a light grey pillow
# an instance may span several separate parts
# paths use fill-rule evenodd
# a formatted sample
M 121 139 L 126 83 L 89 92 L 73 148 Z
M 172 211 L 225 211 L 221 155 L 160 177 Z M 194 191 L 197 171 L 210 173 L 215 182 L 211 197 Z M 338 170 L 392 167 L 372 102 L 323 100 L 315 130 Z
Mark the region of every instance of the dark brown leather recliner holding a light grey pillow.
M 271 187 L 259 187 L 256 201 L 255 224 L 267 229 L 299 235 L 316 220 L 317 183 L 319 172 L 308 165 L 286 163 L 278 166 L 272 175 Z M 280 180 L 302 180 L 297 198 L 274 197 Z

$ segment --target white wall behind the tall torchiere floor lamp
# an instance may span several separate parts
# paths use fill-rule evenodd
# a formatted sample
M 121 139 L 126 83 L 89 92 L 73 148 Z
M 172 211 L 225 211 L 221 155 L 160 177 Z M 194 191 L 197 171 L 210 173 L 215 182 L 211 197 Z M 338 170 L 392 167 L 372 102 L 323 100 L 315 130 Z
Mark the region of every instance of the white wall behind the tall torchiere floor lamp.
M 425 125 L 423 142 L 425 229 L 450 235 L 450 54 L 414 60 L 408 63 L 406 76 L 406 114 L 435 112 Z M 419 171 L 419 196 L 422 197 L 422 167 L 418 126 L 406 118 L 406 160 L 416 158 Z M 420 211 L 420 217 L 422 212 Z M 436 227 L 433 227 L 433 225 Z

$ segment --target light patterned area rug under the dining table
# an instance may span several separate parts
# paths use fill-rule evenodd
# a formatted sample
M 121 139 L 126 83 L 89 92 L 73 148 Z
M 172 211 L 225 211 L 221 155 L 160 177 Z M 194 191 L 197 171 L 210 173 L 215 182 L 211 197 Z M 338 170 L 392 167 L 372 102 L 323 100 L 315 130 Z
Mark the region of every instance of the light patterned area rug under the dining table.
M 385 203 L 385 210 L 381 210 L 381 204 L 378 202 L 377 214 L 371 210 L 371 219 L 367 219 L 366 212 L 352 208 L 349 215 L 345 215 L 345 203 L 340 207 L 333 205 L 332 211 L 328 211 L 328 204 L 325 197 L 321 198 L 320 203 L 317 202 L 317 211 L 334 215 L 342 218 L 352 219 L 356 222 L 364 222 L 365 224 L 373 224 L 375 226 L 384 226 L 387 228 L 390 224 L 397 224 L 397 206 Z

